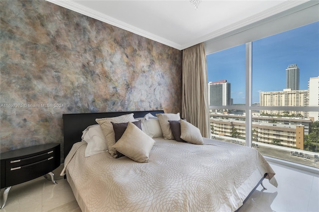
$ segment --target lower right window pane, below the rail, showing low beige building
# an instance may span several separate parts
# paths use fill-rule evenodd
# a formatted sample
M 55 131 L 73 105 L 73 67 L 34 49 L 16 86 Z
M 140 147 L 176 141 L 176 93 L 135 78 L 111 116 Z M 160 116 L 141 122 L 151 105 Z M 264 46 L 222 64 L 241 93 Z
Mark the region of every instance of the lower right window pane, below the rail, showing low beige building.
M 286 111 L 279 111 L 285 113 Z M 307 114 L 308 112 L 302 112 Z M 319 121 L 309 118 L 253 116 L 253 146 L 263 155 L 318 168 L 315 160 Z

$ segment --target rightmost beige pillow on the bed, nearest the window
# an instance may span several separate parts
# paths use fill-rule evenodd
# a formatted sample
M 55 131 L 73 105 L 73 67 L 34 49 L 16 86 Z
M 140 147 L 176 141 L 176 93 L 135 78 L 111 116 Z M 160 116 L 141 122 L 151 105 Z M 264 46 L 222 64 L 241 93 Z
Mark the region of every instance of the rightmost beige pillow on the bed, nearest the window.
M 180 138 L 189 143 L 204 144 L 200 130 L 183 119 L 180 119 Z

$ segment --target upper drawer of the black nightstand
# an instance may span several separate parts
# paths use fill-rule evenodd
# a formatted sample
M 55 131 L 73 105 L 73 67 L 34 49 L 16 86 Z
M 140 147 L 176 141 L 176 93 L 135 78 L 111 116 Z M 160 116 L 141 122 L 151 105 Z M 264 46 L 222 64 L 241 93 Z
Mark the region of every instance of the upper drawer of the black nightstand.
M 6 167 L 9 169 L 19 167 L 19 166 L 25 166 L 28 164 L 36 163 L 42 160 L 47 160 L 48 158 L 52 157 L 54 155 L 54 151 L 48 151 L 46 153 L 35 155 L 32 157 L 25 157 L 17 160 L 7 160 L 6 161 Z

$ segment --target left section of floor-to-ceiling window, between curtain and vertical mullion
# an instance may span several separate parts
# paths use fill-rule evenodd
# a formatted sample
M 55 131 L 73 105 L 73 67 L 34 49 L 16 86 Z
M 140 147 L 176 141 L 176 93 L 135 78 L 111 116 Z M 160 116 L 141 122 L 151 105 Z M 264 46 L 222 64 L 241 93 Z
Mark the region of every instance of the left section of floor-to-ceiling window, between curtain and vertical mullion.
M 245 142 L 245 44 L 207 55 L 210 128 L 212 137 Z

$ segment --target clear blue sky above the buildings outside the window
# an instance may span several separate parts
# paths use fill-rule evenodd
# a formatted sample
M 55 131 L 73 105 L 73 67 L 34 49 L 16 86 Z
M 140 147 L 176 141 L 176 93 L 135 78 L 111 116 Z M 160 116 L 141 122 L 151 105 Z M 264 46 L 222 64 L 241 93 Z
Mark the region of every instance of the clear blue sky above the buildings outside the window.
M 253 103 L 259 92 L 283 91 L 286 68 L 297 64 L 300 90 L 319 76 L 319 22 L 253 41 Z M 245 104 L 245 44 L 207 55 L 208 82 L 231 83 L 234 104 Z

